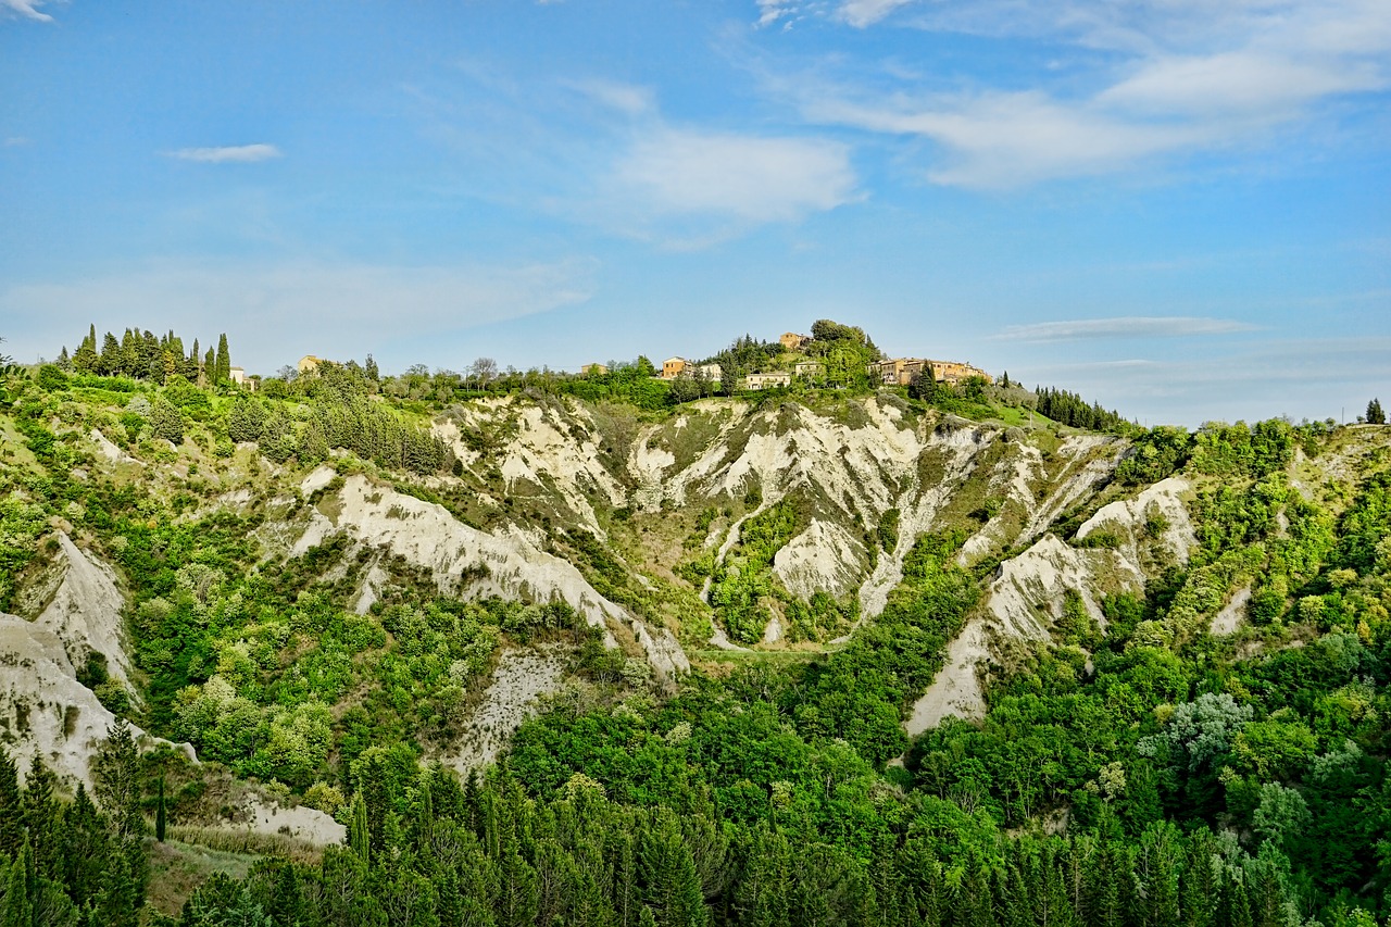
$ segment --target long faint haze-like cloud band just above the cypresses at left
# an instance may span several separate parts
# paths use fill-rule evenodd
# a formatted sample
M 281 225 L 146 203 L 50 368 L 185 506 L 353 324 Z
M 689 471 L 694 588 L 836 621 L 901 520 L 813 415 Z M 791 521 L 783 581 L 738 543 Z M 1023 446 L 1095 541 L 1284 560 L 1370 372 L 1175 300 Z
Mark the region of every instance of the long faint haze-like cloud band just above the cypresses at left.
M 131 319 L 160 331 L 227 331 L 248 365 L 270 373 L 306 354 L 378 356 L 392 345 L 456 344 L 480 326 L 583 303 L 590 260 L 515 266 L 184 264 L 71 283 L 0 288 L 14 354 L 54 356 L 86 331 Z M 447 363 L 438 356 L 437 362 Z

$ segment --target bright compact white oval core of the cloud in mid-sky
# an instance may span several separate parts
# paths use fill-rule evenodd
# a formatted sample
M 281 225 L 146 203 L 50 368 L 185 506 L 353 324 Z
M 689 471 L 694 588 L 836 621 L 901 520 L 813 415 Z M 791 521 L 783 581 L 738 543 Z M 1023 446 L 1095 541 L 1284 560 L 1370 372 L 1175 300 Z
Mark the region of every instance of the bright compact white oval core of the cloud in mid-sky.
M 616 182 L 655 213 L 793 221 L 855 198 L 844 145 L 662 128 L 638 139 Z

